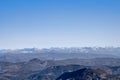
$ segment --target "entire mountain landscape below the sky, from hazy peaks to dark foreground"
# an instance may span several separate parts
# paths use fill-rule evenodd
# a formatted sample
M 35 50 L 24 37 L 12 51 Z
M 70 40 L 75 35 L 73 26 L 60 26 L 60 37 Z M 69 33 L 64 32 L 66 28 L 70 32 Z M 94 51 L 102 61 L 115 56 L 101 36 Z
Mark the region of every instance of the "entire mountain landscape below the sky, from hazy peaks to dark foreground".
M 0 50 L 0 80 L 120 80 L 120 48 Z

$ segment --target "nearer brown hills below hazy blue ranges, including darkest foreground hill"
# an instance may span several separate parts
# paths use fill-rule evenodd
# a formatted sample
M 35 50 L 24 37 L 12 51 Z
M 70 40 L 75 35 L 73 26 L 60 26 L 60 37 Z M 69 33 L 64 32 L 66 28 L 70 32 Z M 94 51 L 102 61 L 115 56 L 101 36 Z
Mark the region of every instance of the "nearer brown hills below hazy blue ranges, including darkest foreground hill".
M 100 65 L 99 61 L 104 59 L 96 61 L 99 64 L 96 66 L 69 61 L 72 63 L 39 59 L 17 63 L 0 62 L 0 80 L 120 80 L 120 59 L 114 60 L 118 63 L 114 66 L 112 63 Z

